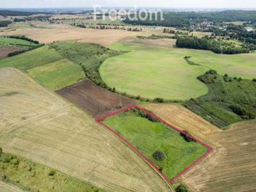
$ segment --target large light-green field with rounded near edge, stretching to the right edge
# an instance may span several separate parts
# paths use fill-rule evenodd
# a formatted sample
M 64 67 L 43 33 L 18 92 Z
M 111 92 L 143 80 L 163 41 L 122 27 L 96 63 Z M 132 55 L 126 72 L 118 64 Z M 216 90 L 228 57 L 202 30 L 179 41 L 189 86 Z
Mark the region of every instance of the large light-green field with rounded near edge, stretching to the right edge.
M 154 99 L 190 99 L 208 92 L 196 77 L 212 68 L 220 74 L 252 79 L 256 74 L 256 54 L 223 55 L 210 51 L 167 48 L 154 45 L 116 43 L 111 49 L 131 51 L 109 58 L 100 67 L 106 84 L 122 92 Z M 207 67 L 188 65 L 191 61 Z

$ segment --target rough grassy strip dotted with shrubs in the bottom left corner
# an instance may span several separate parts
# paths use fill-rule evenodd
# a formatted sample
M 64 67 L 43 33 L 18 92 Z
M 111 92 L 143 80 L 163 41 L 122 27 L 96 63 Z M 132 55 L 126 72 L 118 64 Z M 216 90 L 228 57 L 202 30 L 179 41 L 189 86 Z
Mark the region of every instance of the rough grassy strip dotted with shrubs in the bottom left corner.
M 10 184 L 10 189 L 15 185 L 24 191 L 102 191 L 58 170 L 13 154 L 1 153 L 0 167 L 3 168 L 0 177 L 3 182 Z

